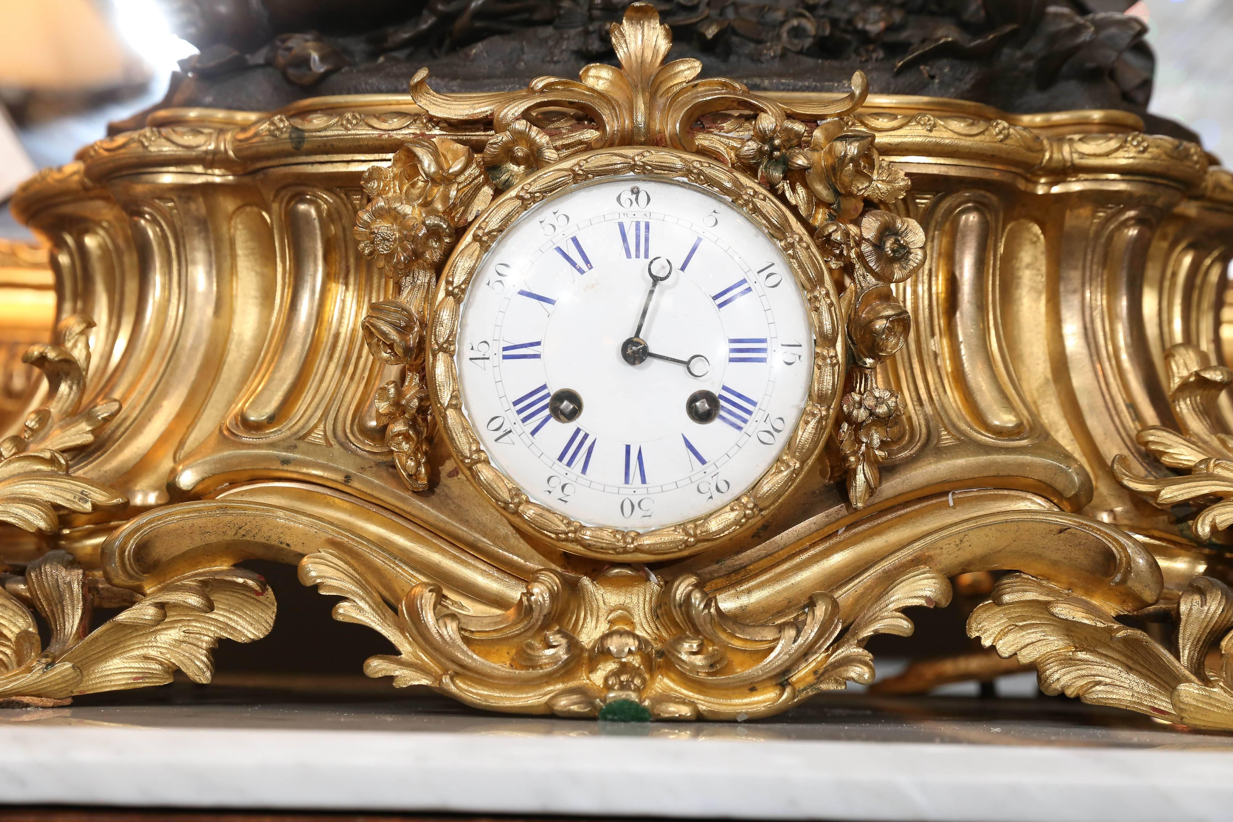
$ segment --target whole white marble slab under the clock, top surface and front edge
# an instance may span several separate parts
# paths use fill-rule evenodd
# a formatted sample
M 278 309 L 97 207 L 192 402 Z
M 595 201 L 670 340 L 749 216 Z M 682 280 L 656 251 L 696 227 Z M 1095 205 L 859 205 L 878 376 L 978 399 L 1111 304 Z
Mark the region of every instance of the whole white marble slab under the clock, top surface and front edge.
M 888 723 L 852 714 L 822 722 L 600 727 L 390 704 L 2 711 L 0 804 L 981 822 L 1233 818 L 1227 736 L 1142 723 Z

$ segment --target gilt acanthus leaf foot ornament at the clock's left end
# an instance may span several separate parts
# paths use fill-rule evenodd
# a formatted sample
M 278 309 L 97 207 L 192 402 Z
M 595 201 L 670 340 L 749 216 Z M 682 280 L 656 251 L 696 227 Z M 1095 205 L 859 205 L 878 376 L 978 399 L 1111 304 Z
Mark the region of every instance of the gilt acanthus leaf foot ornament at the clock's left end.
M 21 573 L 0 563 L 0 706 L 46 707 L 79 694 L 158 685 L 175 669 L 206 683 L 218 638 L 252 642 L 274 624 L 274 595 L 253 572 L 195 571 L 143 595 L 109 584 L 55 547 L 63 511 L 117 510 L 128 502 L 75 476 L 67 454 L 92 444 L 120 410 L 111 398 L 84 403 L 91 328 L 86 317 L 65 317 L 54 344 L 27 351 L 25 361 L 47 376 L 51 401 L 0 441 L 0 537 L 16 526 L 49 541 Z M 91 631 L 95 606 L 126 610 Z M 36 614 L 47 624 L 47 647 Z

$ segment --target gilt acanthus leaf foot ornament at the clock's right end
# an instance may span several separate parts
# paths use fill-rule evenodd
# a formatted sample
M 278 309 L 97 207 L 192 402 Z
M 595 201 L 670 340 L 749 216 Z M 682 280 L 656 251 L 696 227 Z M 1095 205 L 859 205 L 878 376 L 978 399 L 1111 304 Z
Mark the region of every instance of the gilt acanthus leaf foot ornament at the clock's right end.
M 1117 456 L 1113 474 L 1161 508 L 1194 507 L 1194 518 L 1178 524 L 1184 536 L 1227 540 L 1233 524 L 1233 439 L 1218 430 L 1216 401 L 1233 385 L 1233 370 L 1212 366 L 1205 351 L 1180 344 L 1165 352 L 1165 372 L 1181 433 L 1155 425 L 1142 429 L 1137 440 L 1168 468 L 1189 473 L 1141 477 L 1126 456 Z M 1200 576 L 1155 608 L 1176 620 L 1173 651 L 1118 621 L 1121 614 L 1106 604 L 1016 573 L 1004 577 L 972 612 L 968 633 L 1002 657 L 1036 665 L 1046 694 L 1064 693 L 1195 728 L 1233 730 L 1233 592 Z

